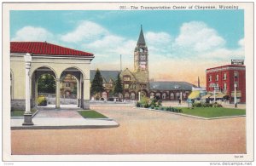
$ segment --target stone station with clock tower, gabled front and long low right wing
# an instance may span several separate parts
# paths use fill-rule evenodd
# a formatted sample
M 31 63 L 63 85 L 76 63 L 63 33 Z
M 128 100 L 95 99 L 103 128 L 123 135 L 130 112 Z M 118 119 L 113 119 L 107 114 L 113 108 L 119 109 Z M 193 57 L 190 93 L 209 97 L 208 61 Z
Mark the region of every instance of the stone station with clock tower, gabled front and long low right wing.
M 195 85 L 186 82 L 149 81 L 148 47 L 143 35 L 143 27 L 134 49 L 134 69 L 126 68 L 120 77 L 124 85 L 126 100 L 138 100 L 142 96 L 157 97 L 161 100 L 187 100 Z M 139 96 L 140 95 L 140 96 Z

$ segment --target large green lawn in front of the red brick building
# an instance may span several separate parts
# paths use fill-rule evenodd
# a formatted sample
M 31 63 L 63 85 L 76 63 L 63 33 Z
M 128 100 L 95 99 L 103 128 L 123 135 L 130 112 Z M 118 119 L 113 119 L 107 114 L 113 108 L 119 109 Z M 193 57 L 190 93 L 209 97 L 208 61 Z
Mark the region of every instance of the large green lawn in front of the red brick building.
M 195 107 L 194 109 L 182 108 L 184 114 L 198 117 L 229 117 L 237 115 L 246 115 L 245 109 L 233 109 L 223 107 Z

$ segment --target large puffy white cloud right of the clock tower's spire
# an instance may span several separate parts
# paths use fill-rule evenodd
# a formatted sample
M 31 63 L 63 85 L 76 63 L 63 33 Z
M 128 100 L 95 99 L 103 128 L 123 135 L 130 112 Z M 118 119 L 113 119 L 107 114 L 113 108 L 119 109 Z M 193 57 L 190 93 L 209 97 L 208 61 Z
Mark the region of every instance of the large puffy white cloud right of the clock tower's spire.
M 204 22 L 191 21 L 183 23 L 180 34 L 175 39 L 175 49 L 204 52 L 223 48 L 225 40 L 218 32 L 208 27 Z

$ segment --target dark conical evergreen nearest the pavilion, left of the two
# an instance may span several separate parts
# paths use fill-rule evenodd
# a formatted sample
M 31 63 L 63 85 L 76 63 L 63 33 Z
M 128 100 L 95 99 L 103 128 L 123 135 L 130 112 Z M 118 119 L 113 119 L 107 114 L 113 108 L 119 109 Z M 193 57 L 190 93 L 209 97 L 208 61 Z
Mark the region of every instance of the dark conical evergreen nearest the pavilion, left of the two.
M 90 88 L 90 93 L 93 95 L 98 95 L 99 93 L 102 93 L 104 91 L 103 88 L 103 78 L 102 78 L 102 74 L 99 71 L 99 69 L 96 70 L 96 74 L 92 80 L 91 83 L 91 88 Z M 96 96 L 98 97 L 98 96 Z

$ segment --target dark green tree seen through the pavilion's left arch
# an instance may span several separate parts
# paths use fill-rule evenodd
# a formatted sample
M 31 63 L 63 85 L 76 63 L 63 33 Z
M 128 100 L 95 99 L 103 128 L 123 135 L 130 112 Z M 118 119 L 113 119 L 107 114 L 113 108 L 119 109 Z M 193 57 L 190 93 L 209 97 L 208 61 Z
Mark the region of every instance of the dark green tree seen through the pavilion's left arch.
M 38 93 L 55 94 L 55 77 L 50 74 L 43 74 L 38 79 Z

